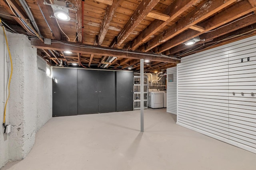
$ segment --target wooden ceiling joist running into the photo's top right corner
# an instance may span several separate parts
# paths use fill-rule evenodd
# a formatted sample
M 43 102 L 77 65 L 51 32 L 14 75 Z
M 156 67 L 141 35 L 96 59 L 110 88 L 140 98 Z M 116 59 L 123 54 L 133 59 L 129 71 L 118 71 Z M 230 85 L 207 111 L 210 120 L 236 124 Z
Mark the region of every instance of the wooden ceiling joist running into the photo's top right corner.
M 181 33 L 177 35 L 176 37 L 172 38 L 170 41 L 166 41 L 162 45 L 160 45 L 157 49 L 154 49 L 153 51 L 157 50 L 157 53 L 162 53 L 163 51 L 166 51 L 172 47 L 175 47 L 189 39 L 192 39 L 196 36 L 199 36 L 207 31 L 210 31 L 212 29 L 215 29 L 221 25 L 224 25 L 225 23 L 228 23 L 230 21 L 233 21 L 237 18 L 240 18 L 241 16 L 244 16 L 252 11 L 256 10 L 256 7 L 252 8 L 250 3 L 245 1 L 240 1 L 230 8 L 216 14 L 212 18 L 208 19 L 207 21 L 203 21 L 200 23 L 200 26 L 204 27 L 205 30 L 202 32 L 198 32 L 192 29 L 189 29 L 185 31 L 184 33 Z

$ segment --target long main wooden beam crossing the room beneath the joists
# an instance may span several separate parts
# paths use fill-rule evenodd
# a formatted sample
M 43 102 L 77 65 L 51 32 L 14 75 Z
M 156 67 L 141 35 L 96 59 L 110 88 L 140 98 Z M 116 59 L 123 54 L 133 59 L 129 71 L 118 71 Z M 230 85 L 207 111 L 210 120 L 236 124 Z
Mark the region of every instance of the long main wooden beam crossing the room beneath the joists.
M 70 49 L 72 53 L 94 54 L 101 56 L 116 56 L 129 59 L 149 59 L 150 61 L 160 61 L 166 63 L 180 63 L 178 60 L 160 57 L 150 53 L 142 53 L 130 50 L 121 50 L 110 47 L 98 47 L 95 45 L 85 45 L 81 43 L 72 43 L 66 41 L 52 41 L 51 45 L 46 45 L 38 39 L 31 39 L 31 45 L 39 49 L 50 49 L 64 51 Z

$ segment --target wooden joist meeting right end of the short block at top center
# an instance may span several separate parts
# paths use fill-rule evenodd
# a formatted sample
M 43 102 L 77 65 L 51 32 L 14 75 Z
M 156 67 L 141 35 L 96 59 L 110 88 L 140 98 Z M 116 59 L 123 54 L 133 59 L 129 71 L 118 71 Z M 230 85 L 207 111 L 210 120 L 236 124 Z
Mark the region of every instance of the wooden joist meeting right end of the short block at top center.
M 125 49 L 137 49 L 148 38 L 150 38 L 150 36 L 154 35 L 170 21 L 180 16 L 184 11 L 188 10 L 188 8 L 190 8 L 197 1 L 198 0 L 174 0 L 174 2 L 163 11 L 163 14 L 170 16 L 170 18 L 166 21 L 152 21 L 152 23 L 150 23 L 150 25 L 148 25 L 146 29 L 144 29 L 134 40 L 132 40 L 132 48 L 130 48 L 130 45 L 126 45 Z

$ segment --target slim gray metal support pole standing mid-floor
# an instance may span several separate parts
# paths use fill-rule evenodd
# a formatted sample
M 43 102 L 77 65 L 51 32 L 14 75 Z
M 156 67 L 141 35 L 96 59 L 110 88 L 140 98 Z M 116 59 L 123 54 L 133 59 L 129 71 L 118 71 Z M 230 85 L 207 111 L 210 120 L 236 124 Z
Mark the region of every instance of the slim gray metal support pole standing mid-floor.
M 140 131 L 144 132 L 144 59 L 140 59 Z

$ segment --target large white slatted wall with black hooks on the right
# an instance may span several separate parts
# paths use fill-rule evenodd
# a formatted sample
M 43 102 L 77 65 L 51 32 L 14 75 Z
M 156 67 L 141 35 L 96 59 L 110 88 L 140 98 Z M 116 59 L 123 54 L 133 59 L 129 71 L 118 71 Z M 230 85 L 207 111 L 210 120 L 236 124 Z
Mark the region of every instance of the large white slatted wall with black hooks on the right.
M 256 36 L 177 67 L 177 124 L 256 153 Z

